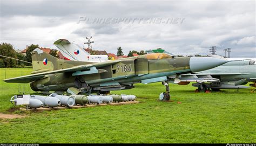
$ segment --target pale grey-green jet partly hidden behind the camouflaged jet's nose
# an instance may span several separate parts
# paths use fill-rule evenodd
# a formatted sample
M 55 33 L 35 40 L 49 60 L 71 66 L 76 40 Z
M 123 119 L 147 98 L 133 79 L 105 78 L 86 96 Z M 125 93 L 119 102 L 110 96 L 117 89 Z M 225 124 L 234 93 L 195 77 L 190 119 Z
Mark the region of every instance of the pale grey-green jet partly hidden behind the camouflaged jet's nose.
M 216 57 L 216 56 L 214 56 Z M 250 88 L 246 85 L 248 82 L 256 83 L 256 65 L 253 59 L 229 59 L 232 62 L 208 69 L 206 71 L 196 72 L 193 74 L 183 74 L 179 77 L 169 77 L 172 82 L 179 85 L 187 85 L 190 82 L 198 87 L 199 92 L 206 92 L 208 89 L 219 91 L 220 89 L 245 89 Z M 235 61 L 238 60 L 238 61 Z

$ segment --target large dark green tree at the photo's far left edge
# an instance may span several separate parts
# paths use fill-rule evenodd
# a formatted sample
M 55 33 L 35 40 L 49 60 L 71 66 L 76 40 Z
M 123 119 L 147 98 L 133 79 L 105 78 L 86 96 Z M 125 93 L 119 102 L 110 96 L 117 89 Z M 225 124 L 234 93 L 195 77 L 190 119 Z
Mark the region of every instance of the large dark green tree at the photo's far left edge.
M 16 52 L 14 50 L 14 47 L 11 44 L 7 44 L 7 43 L 0 44 L 0 54 L 17 59 Z M 15 67 L 17 63 L 16 60 L 10 59 L 10 58 L 2 58 L 1 60 L 2 61 L 0 64 L 1 66 L 4 66 L 4 67 Z

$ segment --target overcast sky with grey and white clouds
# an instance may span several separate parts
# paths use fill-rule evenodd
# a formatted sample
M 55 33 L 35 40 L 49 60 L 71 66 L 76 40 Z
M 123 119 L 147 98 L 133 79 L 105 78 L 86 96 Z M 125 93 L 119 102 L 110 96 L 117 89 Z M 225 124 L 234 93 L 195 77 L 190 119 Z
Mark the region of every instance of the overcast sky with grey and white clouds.
M 0 40 L 22 50 L 59 38 L 116 53 L 163 48 L 174 54 L 256 58 L 255 1 L 0 0 Z M 118 21 L 117 21 L 118 20 Z M 129 21 L 130 20 L 130 21 Z M 86 46 L 84 46 L 86 47 Z

